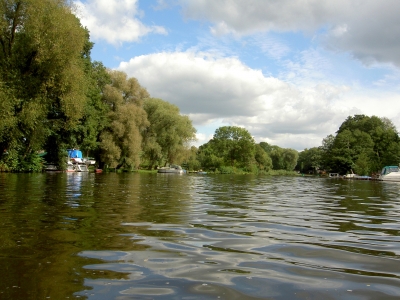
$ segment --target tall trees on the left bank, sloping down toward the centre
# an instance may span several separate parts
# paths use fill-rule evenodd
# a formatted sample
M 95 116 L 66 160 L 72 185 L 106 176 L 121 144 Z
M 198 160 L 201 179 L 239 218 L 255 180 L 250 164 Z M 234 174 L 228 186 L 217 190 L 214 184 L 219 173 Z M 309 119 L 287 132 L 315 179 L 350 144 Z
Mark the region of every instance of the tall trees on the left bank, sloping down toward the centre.
M 154 168 L 187 154 L 195 128 L 135 78 L 93 62 L 67 0 L 0 4 L 0 170 L 66 164 L 79 148 L 112 168 Z

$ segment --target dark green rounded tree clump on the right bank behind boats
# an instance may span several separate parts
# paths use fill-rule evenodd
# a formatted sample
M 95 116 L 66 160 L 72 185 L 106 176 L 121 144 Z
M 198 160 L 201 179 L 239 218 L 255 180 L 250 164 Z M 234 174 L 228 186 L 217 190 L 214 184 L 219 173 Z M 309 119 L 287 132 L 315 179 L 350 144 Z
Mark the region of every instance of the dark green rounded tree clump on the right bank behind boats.
M 376 116 L 349 116 L 335 135 L 328 135 L 320 147 L 299 154 L 297 169 L 371 175 L 400 162 L 400 138 L 393 123 Z

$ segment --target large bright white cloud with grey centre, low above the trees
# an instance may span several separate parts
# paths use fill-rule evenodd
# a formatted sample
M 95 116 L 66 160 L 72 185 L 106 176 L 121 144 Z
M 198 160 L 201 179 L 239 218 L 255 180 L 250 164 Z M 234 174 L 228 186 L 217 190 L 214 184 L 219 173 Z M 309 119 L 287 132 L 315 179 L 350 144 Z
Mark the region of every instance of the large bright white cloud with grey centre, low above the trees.
M 118 69 L 137 78 L 153 97 L 177 105 L 196 127 L 220 120 L 246 128 L 259 142 L 295 149 L 319 145 L 348 115 L 359 113 L 340 102 L 347 86 L 296 87 L 236 58 L 156 53 L 132 58 Z

